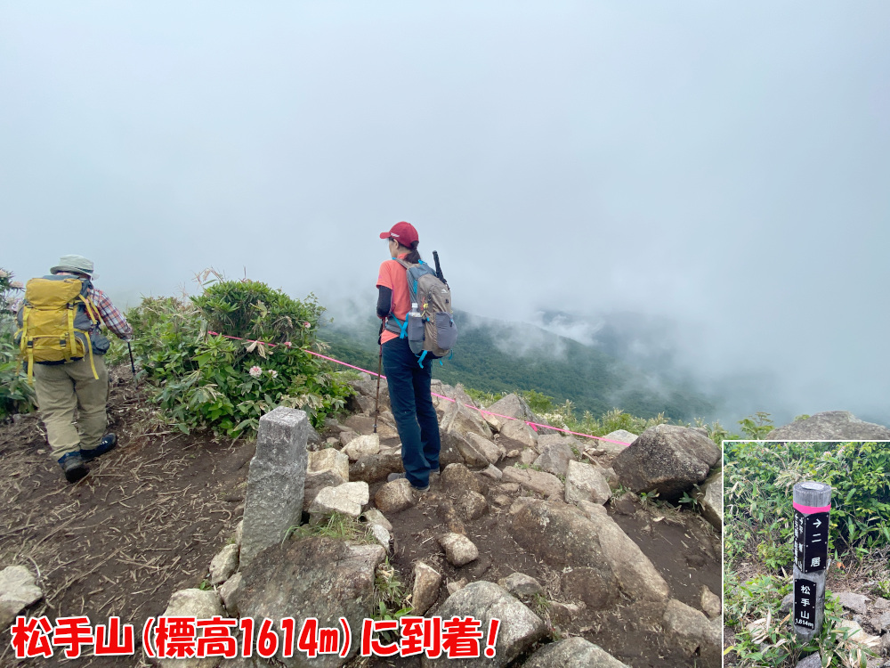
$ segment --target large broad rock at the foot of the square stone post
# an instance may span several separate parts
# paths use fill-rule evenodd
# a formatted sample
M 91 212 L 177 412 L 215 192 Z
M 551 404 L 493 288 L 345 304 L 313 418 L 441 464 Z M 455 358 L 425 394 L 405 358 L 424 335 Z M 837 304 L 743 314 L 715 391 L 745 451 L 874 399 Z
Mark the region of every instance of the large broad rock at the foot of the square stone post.
M 340 629 L 345 617 L 352 631 L 350 654 L 345 658 L 320 655 L 307 660 L 301 652 L 290 658 L 276 655 L 294 666 L 340 666 L 360 648 L 361 623 L 373 614 L 374 574 L 385 558 L 380 545 L 348 545 L 325 536 L 287 541 L 263 552 L 243 575 L 239 610 L 255 620 L 315 617 L 320 627 Z M 274 583 L 274 586 L 270 586 Z M 342 640 L 341 640 L 342 646 Z

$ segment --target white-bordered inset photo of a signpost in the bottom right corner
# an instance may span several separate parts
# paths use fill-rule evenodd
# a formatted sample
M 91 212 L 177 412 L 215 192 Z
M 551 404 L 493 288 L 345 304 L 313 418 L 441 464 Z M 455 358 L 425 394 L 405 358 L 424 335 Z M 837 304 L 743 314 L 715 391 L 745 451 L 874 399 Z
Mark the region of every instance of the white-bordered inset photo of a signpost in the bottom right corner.
M 724 441 L 724 665 L 890 656 L 890 441 Z

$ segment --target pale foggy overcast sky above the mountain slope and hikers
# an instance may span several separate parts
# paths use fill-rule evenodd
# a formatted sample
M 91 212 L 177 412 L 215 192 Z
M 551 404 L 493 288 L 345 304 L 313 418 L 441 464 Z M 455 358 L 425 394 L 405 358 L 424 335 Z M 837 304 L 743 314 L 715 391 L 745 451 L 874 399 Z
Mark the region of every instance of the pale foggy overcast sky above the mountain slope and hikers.
M 467 311 L 667 316 L 762 410 L 890 416 L 888 39 L 886 2 L 0 2 L 0 265 L 370 311 L 408 220 Z

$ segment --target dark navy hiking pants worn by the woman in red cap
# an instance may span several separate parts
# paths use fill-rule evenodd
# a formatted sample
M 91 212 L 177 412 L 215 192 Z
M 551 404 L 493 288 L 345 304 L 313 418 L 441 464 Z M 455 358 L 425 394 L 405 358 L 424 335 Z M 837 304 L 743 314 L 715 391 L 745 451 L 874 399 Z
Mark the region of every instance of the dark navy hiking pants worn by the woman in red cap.
M 425 487 L 430 483 L 430 471 L 439 468 L 441 449 L 439 420 L 430 395 L 433 360 L 425 360 L 421 368 L 407 338 L 387 341 L 383 354 L 405 475 L 411 485 Z

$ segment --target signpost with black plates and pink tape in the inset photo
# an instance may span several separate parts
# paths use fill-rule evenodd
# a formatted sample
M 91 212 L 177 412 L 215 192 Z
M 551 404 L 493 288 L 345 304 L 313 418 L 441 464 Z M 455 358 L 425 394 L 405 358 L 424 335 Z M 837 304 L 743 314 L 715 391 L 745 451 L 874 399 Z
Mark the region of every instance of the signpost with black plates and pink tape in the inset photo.
M 825 615 L 825 570 L 829 560 L 831 486 L 794 485 L 794 633 L 800 642 L 819 635 Z

